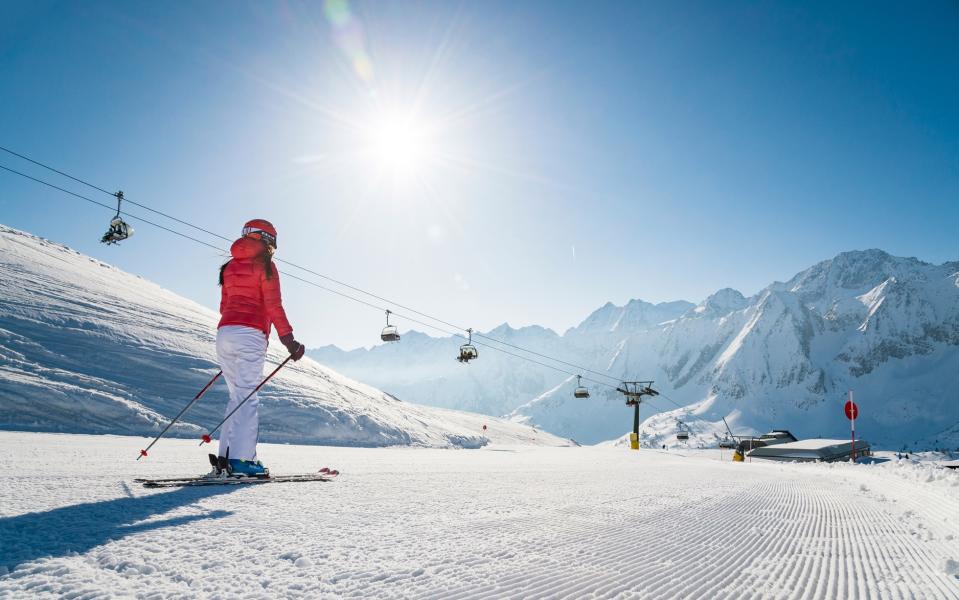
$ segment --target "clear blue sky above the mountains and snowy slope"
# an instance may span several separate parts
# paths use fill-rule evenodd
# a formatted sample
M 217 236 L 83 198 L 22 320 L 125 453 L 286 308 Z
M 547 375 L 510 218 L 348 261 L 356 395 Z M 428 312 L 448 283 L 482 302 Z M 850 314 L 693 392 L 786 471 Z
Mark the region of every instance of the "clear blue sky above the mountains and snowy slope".
M 959 259 L 950 2 L 8 2 L 0 73 L 0 145 L 463 326 Z M 216 306 L 220 254 L 109 217 L 0 173 L 0 222 Z M 284 291 L 308 345 L 377 341 Z

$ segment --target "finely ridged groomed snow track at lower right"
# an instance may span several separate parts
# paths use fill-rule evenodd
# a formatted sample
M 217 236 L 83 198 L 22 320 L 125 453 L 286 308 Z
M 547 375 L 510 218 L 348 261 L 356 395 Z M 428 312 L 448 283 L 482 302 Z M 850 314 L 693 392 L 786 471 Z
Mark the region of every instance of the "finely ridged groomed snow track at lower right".
M 464 570 L 469 583 L 458 590 L 415 597 L 959 598 L 959 582 L 944 577 L 929 544 L 935 535 L 925 537 L 914 517 L 923 504 L 922 513 L 951 525 L 945 511 L 934 502 L 889 510 L 831 479 L 757 482 L 745 494 L 741 484 L 711 482 L 694 494 L 674 484 L 656 501 L 570 507 L 558 511 L 548 542 L 536 520 L 499 524 L 509 532 L 499 542 L 511 547 L 505 574 Z M 891 488 L 897 498 L 915 493 L 905 483 Z

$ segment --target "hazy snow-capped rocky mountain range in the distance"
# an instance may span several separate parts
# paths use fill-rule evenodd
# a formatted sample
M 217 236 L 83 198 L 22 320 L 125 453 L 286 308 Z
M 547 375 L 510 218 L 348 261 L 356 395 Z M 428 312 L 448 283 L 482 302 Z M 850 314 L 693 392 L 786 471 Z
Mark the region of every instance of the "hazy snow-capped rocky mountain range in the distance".
M 663 396 L 642 407 L 648 444 L 675 443 L 677 419 L 690 443 L 714 444 L 723 417 L 736 434 L 846 437 L 852 389 L 861 436 L 897 448 L 959 445 L 959 262 L 845 252 L 751 297 L 723 289 L 699 304 L 607 303 L 562 335 L 508 324 L 486 335 L 612 378 L 583 372 L 595 380 L 655 380 Z M 413 402 L 509 415 L 580 442 L 631 428 L 609 387 L 588 384 L 591 398 L 576 400 L 574 377 L 482 347 L 461 365 L 460 343 L 410 331 L 398 344 L 310 355 Z

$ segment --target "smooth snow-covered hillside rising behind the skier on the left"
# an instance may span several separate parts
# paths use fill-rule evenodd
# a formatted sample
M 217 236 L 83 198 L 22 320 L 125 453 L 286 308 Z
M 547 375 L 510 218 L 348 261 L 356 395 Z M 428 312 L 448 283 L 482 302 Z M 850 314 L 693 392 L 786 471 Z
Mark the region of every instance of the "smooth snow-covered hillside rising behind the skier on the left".
M 218 370 L 214 312 L 3 226 L 0 289 L 0 429 L 156 433 Z M 284 355 L 274 340 L 268 363 Z M 172 434 L 198 436 L 225 404 L 217 384 Z M 402 402 L 310 359 L 284 368 L 261 404 L 263 441 L 566 443 L 529 426 Z

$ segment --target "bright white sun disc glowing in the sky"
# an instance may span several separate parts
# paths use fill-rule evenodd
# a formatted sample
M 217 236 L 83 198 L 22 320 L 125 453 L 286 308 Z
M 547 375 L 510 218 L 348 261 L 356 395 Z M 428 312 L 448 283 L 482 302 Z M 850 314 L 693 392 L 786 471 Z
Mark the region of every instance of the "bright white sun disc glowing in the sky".
M 387 113 L 372 119 L 367 138 L 372 158 L 394 179 L 421 174 L 435 157 L 430 127 L 411 115 Z

